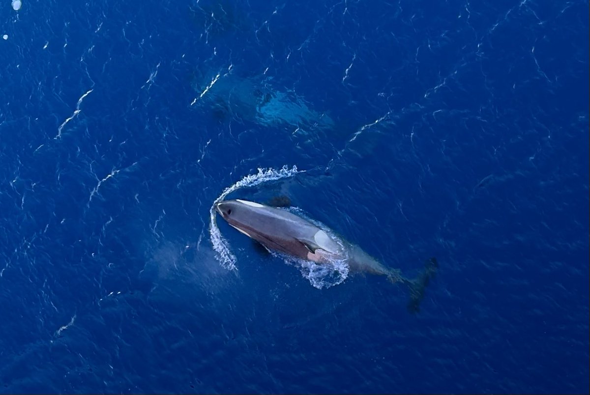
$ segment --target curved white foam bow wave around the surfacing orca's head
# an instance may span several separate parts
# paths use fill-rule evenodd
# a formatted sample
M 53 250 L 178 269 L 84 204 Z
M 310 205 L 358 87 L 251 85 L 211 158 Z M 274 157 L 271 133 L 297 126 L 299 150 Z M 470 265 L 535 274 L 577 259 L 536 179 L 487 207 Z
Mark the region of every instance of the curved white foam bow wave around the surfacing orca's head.
M 261 183 L 274 181 L 281 178 L 293 177 L 297 173 L 303 173 L 305 170 L 297 170 L 297 166 L 289 167 L 283 166 L 279 170 L 275 170 L 273 168 L 270 169 L 258 169 L 258 173 L 253 175 L 248 175 L 242 178 L 240 181 L 235 183 L 234 185 L 227 187 L 221 195 L 213 202 L 211 209 L 209 210 L 209 215 L 211 216 L 211 224 L 209 226 L 209 235 L 211 235 L 211 243 L 213 245 L 213 249 L 217 254 L 215 257 L 219 261 L 219 264 L 228 270 L 237 270 L 235 267 L 236 258 L 235 255 L 232 254 L 230 245 L 227 240 L 221 235 L 219 232 L 219 228 L 217 227 L 217 214 L 215 213 L 215 205 L 221 200 L 225 199 L 225 196 L 229 195 L 230 193 L 234 192 L 243 187 L 251 187 L 255 185 L 260 185 Z

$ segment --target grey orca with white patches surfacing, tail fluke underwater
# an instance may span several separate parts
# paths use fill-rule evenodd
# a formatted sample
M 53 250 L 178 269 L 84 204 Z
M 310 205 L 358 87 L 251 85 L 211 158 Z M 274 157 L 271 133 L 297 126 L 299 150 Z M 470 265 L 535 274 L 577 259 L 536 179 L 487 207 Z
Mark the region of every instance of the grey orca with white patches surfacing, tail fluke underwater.
M 215 210 L 232 228 L 260 243 L 268 251 L 295 258 L 329 264 L 342 260 L 351 271 L 385 276 L 390 282 L 407 285 L 410 291 L 408 311 L 419 311 L 425 288 L 438 268 L 436 258 L 425 262 L 424 270 L 414 279 L 401 275 L 398 269 L 383 265 L 358 245 L 324 231 L 312 221 L 285 208 L 268 206 L 250 200 L 222 200 Z

